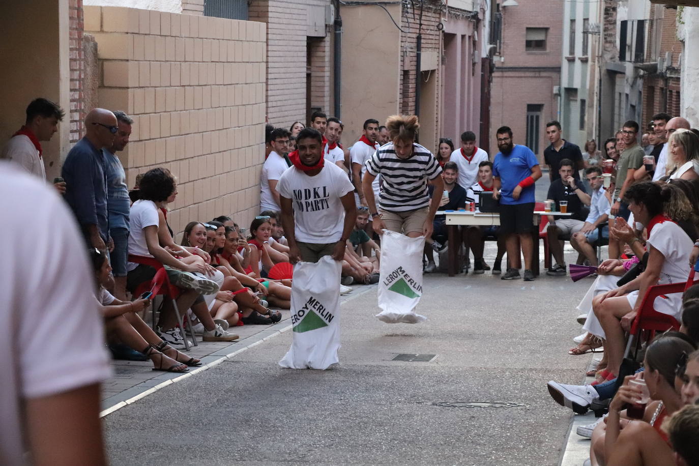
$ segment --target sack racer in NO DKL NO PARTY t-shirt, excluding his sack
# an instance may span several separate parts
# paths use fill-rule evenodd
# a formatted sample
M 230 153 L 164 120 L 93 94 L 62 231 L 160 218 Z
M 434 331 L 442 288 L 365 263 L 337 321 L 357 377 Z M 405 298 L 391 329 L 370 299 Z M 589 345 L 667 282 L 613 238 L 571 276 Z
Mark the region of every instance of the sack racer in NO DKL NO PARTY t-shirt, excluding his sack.
M 354 187 L 340 167 L 324 163 L 322 144 L 318 131 L 301 130 L 298 150 L 289 155 L 294 166 L 278 183 L 291 263 L 317 262 L 329 255 L 342 261 L 354 228 Z

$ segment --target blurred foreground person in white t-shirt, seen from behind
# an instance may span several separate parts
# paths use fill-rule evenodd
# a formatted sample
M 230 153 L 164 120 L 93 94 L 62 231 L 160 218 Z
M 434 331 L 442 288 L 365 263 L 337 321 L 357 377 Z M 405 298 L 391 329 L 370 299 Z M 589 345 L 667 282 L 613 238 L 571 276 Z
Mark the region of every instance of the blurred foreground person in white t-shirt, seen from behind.
M 13 200 L 0 217 L 15 227 L 0 231 L 12 245 L 0 261 L 0 463 L 104 465 L 99 384 L 111 369 L 94 276 L 64 201 L 18 167 L 0 162 L 0 197 Z

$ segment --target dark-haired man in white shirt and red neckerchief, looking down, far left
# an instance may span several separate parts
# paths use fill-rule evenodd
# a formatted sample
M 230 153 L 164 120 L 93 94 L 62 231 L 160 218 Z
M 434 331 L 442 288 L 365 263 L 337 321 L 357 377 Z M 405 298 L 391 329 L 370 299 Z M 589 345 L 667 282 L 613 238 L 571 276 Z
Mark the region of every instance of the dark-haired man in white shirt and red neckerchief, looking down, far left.
M 63 120 L 65 113 L 57 103 L 41 97 L 29 103 L 26 113 L 24 126 L 3 147 L 0 159 L 11 160 L 32 175 L 45 180 L 41 141 L 51 140 L 58 131 L 58 122 Z M 56 183 L 55 187 L 61 194 L 66 192 L 65 182 Z

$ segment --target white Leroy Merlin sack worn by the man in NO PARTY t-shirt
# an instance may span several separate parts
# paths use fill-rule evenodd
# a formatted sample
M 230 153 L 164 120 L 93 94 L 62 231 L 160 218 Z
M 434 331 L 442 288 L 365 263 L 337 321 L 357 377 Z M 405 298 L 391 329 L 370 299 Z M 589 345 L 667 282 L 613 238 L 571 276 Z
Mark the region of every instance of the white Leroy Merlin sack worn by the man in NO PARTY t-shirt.
M 290 369 L 321 369 L 337 363 L 340 349 L 340 272 L 331 256 L 294 265 L 291 285 L 291 349 L 279 361 Z

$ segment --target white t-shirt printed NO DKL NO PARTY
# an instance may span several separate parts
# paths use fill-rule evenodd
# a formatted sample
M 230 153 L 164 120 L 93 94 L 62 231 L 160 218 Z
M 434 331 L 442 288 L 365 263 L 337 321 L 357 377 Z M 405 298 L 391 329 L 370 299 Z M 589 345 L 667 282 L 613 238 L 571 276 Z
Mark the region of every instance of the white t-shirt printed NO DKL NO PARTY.
M 308 176 L 291 167 L 284 172 L 277 188 L 294 205 L 296 241 L 329 244 L 340 240 L 345 222 L 345 207 L 340 198 L 354 191 L 342 168 L 324 163 L 320 173 Z

